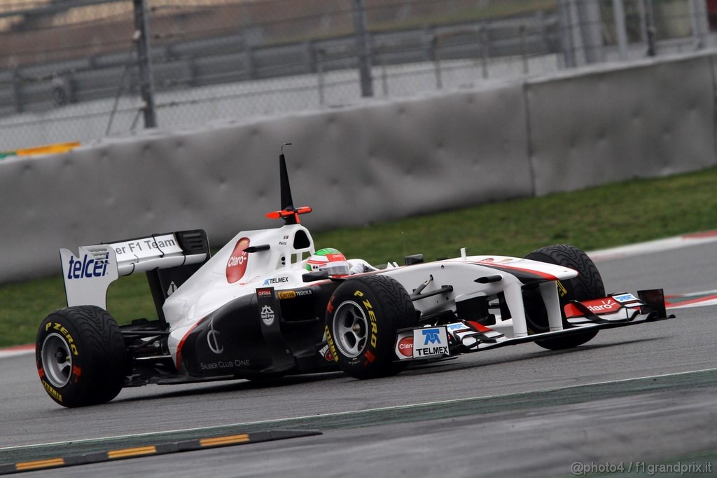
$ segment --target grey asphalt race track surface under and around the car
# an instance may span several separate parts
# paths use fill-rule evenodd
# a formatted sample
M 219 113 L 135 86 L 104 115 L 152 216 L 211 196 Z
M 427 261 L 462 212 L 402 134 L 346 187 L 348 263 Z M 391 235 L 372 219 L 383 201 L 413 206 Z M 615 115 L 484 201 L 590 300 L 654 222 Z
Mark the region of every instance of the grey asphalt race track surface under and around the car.
M 717 290 L 716 265 L 717 243 L 598 263 L 609 291 L 667 294 Z M 300 429 L 323 434 L 28 474 L 541 477 L 584 464 L 644 476 L 678 463 L 708 476 L 717 470 L 717 306 L 672 312 L 677 319 L 604 330 L 568 351 L 518 345 L 379 380 L 155 385 L 80 409 L 47 397 L 32 355 L 9 357 L 0 360 L 0 464 Z

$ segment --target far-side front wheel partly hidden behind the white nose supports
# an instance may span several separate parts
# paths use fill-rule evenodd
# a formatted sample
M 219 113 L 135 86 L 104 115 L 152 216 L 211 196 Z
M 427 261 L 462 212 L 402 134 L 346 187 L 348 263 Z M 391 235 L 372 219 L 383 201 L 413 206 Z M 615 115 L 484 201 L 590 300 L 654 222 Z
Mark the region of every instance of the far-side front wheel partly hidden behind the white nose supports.
M 605 296 L 605 287 L 597 266 L 586 253 L 572 245 L 549 245 L 533 250 L 526 256 L 526 259 L 557 264 L 578 271 L 578 276 L 558 282 L 561 309 L 571 300 L 586 301 Z M 547 332 L 549 330 L 548 314 L 538 290 L 524 291 L 523 300 L 526 306 L 528 329 L 534 333 Z M 565 317 L 563 317 L 563 327 L 570 327 Z M 592 330 L 584 334 L 538 340 L 536 344 L 549 350 L 569 349 L 589 342 L 597 335 L 597 332 L 597 330 Z

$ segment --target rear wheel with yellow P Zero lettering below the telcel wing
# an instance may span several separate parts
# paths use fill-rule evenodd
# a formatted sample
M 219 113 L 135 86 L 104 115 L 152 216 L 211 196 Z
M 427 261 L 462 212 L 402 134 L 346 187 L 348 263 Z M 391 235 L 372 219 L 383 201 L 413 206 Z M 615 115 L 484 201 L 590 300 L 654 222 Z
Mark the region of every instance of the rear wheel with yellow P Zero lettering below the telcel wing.
M 37 372 L 52 400 L 72 408 L 106 403 L 122 390 L 125 345 L 115 319 L 97 306 L 49 314 L 35 339 Z

